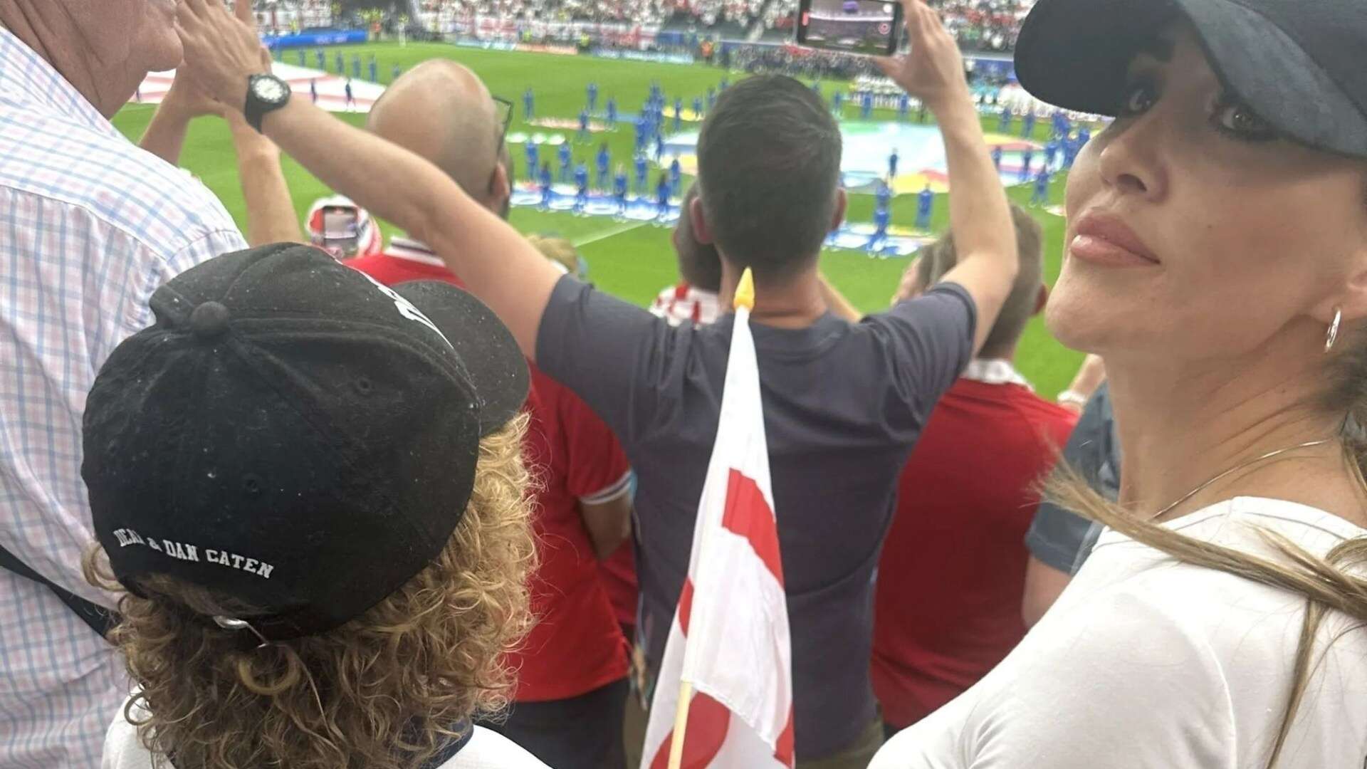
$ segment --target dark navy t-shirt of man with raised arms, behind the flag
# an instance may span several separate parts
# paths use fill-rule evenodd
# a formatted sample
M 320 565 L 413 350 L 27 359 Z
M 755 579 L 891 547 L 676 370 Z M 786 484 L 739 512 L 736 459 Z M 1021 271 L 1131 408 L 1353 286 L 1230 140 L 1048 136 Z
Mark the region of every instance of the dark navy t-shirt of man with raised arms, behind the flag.
M 638 478 L 640 632 L 652 673 L 688 573 L 734 317 L 670 327 L 565 276 L 537 335 L 537 365 L 617 432 Z M 935 402 L 972 359 L 975 323 L 968 291 L 942 283 L 857 324 L 834 315 L 800 330 L 750 324 L 800 759 L 850 747 L 876 718 L 868 672 L 874 568 L 898 473 Z

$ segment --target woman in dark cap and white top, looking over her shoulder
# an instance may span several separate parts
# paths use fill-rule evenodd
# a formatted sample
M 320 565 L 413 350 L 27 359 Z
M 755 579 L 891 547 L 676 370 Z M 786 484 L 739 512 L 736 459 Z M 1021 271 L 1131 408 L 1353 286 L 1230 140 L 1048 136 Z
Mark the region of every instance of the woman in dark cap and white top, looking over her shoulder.
M 1021 83 L 1115 116 L 1047 319 L 1106 359 L 1120 504 L 1053 484 L 1094 556 L 874 769 L 1364 766 L 1363 51 L 1362 0 L 1035 5 Z

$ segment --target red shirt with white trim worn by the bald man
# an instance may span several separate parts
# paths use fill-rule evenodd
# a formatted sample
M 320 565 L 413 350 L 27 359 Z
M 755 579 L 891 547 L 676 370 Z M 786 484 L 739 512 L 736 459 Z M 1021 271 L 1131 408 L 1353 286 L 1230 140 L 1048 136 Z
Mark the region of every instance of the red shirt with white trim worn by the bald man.
M 395 238 L 388 253 L 346 261 L 384 285 L 461 282 L 420 244 Z M 541 565 L 532 576 L 536 625 L 510 664 L 519 669 L 515 699 L 567 699 L 623 679 L 626 639 L 607 591 L 578 504 L 627 491 L 629 465 L 611 430 L 559 382 L 528 363 L 532 417 L 524 457 L 539 482 L 533 528 Z

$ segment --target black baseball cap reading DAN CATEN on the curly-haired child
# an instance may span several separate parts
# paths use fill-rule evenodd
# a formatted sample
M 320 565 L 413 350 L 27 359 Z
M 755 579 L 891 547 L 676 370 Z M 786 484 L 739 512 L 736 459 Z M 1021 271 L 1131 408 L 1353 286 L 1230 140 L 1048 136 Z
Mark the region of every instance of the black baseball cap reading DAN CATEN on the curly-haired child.
M 362 614 L 448 542 L 480 439 L 528 394 L 513 334 L 442 282 L 384 287 L 309 246 L 194 267 L 105 361 L 81 475 L 119 582 L 254 608 L 262 640 Z

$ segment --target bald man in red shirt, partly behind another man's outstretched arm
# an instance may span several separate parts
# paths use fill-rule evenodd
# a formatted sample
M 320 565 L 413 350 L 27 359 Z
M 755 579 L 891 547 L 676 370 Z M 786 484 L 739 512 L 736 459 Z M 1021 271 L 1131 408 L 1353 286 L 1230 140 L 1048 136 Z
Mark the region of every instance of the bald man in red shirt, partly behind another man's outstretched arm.
M 507 215 L 503 123 L 474 73 L 435 59 L 390 88 L 370 131 L 442 163 L 495 213 Z M 586 177 L 586 172 L 585 172 Z M 385 285 L 429 279 L 462 285 L 421 241 L 395 238 L 372 259 L 347 263 Z M 540 566 L 530 582 L 539 623 L 510 664 L 519 670 L 506 722 L 487 724 L 556 769 L 621 764 L 627 649 L 597 561 L 626 539 L 629 468 L 612 432 L 562 384 L 532 365 L 526 456 L 534 494 Z

